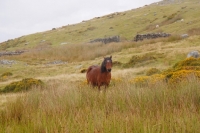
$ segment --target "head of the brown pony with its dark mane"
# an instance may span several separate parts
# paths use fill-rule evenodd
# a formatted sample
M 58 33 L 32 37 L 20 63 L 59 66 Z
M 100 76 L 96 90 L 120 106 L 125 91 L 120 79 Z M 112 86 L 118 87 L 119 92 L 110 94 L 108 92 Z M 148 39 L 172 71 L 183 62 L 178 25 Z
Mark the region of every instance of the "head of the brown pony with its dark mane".
M 112 70 L 112 56 L 104 57 L 104 60 L 101 64 L 101 72 L 111 72 Z

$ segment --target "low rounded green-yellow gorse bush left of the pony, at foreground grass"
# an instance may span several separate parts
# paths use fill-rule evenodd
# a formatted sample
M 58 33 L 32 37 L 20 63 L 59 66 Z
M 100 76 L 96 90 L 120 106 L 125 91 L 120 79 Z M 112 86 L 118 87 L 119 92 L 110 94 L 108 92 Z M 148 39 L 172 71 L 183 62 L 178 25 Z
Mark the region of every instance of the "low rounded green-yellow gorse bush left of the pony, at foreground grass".
M 7 85 L 1 92 L 20 92 L 20 91 L 27 91 L 33 86 L 42 86 L 43 82 L 38 79 L 33 78 L 25 78 L 21 81 L 12 82 Z

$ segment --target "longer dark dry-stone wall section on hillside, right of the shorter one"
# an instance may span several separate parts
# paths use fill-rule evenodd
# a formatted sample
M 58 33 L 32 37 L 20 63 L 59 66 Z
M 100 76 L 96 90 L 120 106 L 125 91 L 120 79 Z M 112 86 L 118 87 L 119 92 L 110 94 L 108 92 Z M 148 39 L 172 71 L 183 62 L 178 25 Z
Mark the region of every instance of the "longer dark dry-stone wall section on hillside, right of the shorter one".
M 169 37 L 171 34 L 168 33 L 148 33 L 148 34 L 137 34 L 134 37 L 134 41 L 143 41 L 144 39 L 155 39 L 161 37 Z

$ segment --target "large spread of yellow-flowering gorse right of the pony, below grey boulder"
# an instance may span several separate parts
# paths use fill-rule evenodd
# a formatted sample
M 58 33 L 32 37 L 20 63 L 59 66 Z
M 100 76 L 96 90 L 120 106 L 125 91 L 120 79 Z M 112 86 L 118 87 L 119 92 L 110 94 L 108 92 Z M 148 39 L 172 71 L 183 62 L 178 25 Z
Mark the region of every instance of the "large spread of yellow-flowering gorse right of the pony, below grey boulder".
M 200 80 L 200 58 L 187 58 L 177 62 L 172 68 L 163 72 L 152 68 L 147 71 L 146 75 L 147 76 L 138 76 L 132 79 L 131 82 L 135 83 L 137 86 L 147 86 L 157 82 L 166 82 L 170 85 L 176 85 L 180 82 L 190 82 L 191 78 Z

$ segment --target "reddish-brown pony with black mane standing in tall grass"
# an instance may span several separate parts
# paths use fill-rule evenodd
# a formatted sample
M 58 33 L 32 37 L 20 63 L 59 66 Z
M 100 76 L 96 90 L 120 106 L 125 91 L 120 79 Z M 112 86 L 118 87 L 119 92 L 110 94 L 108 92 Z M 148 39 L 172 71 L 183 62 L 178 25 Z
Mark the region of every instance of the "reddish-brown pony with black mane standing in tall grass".
M 108 87 L 111 79 L 111 70 L 112 70 L 112 56 L 104 57 L 101 66 L 90 66 L 87 69 L 86 78 L 88 84 L 91 84 L 93 87 L 100 87 L 105 85 L 105 88 Z

